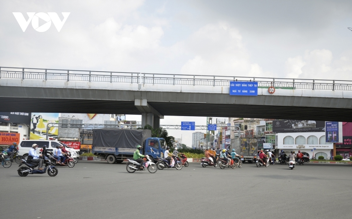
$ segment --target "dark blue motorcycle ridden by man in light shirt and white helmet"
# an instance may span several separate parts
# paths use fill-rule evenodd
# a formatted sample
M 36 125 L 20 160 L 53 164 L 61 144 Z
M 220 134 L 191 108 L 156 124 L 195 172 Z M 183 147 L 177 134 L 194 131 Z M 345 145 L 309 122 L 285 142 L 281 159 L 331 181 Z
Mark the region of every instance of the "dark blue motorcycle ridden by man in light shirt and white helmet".
M 29 156 L 28 158 L 30 158 L 31 156 Z M 43 170 L 38 170 L 38 169 L 34 169 L 36 168 L 39 164 L 38 163 L 34 163 L 34 162 L 30 162 L 31 159 L 22 159 L 22 162 L 19 165 L 19 169 L 17 170 L 17 173 L 19 176 L 27 176 L 28 174 L 44 174 L 46 173 L 46 170 L 48 170 L 48 175 L 49 176 L 56 176 L 58 173 L 58 169 L 56 167 L 54 167 L 53 165 L 51 165 L 50 159 L 49 157 L 44 156 L 44 164 L 45 164 L 45 168 Z M 21 165 L 26 165 L 26 167 L 21 167 Z

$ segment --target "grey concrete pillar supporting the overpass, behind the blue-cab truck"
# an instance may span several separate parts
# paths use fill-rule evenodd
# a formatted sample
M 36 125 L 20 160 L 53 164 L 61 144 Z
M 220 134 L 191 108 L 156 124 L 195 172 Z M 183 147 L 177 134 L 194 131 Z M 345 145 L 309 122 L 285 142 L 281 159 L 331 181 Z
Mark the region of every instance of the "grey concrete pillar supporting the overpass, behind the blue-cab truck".
M 151 125 L 153 129 L 159 128 L 160 119 L 163 119 L 164 116 L 150 106 L 146 99 L 135 99 L 134 106 L 142 112 L 142 128 L 145 125 Z

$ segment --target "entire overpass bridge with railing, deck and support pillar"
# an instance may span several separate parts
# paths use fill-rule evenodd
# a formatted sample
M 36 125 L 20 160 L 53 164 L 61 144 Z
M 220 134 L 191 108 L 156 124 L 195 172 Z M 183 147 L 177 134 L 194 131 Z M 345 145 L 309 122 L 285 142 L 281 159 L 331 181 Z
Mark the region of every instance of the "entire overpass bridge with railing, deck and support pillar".
M 229 95 L 230 81 L 256 81 L 258 95 Z M 352 81 L 0 67 L 0 102 L 5 112 L 142 114 L 153 126 L 164 115 L 352 122 Z

